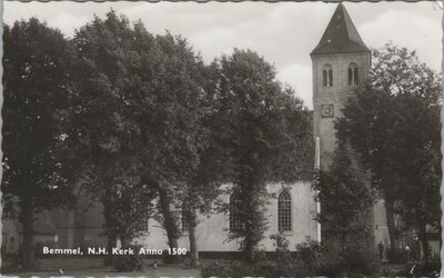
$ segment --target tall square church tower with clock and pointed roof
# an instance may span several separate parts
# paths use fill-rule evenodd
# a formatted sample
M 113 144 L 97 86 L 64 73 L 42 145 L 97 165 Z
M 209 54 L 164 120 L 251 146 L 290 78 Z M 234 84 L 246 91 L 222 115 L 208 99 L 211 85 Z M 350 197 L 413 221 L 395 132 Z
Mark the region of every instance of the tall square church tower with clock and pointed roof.
M 336 148 L 334 121 L 356 86 L 369 77 L 371 51 L 342 3 L 337 4 L 319 44 L 313 66 L 313 136 L 316 163 L 327 169 Z

